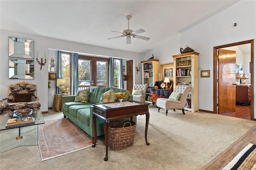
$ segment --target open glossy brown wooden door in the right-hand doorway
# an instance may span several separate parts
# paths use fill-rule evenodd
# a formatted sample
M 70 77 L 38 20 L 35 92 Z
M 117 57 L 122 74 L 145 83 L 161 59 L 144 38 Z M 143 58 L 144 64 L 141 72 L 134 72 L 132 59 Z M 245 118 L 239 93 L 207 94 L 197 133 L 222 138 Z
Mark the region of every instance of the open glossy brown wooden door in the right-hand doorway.
M 219 49 L 218 113 L 236 111 L 236 51 Z

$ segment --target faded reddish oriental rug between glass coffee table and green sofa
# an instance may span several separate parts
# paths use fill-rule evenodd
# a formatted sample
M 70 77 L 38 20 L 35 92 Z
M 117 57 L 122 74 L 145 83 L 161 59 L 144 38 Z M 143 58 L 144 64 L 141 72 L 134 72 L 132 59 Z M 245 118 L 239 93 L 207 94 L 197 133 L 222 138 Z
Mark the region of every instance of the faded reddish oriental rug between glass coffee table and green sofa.
M 38 125 L 42 161 L 92 146 L 92 140 L 70 119 L 54 119 Z

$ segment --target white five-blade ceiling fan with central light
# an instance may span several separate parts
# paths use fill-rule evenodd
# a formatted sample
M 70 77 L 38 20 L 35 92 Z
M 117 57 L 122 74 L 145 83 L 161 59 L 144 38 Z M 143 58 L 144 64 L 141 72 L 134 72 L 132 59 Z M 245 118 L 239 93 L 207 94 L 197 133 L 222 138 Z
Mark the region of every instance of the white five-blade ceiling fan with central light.
M 148 37 L 137 36 L 136 34 L 140 34 L 142 32 L 145 32 L 145 30 L 143 30 L 143 29 L 139 29 L 139 30 L 136 30 L 136 31 L 130 30 L 129 29 L 129 20 L 132 18 L 132 16 L 128 15 L 125 18 L 128 20 L 128 29 L 124 30 L 124 32 L 111 31 L 111 32 L 118 32 L 118 33 L 121 33 L 123 35 L 122 36 L 118 36 L 118 37 L 108 38 L 108 40 L 111 40 L 113 38 L 119 38 L 119 37 L 126 36 L 126 44 L 130 44 L 131 43 L 131 37 L 138 38 L 138 39 L 141 39 L 141 40 L 147 40 L 147 41 L 150 39 Z

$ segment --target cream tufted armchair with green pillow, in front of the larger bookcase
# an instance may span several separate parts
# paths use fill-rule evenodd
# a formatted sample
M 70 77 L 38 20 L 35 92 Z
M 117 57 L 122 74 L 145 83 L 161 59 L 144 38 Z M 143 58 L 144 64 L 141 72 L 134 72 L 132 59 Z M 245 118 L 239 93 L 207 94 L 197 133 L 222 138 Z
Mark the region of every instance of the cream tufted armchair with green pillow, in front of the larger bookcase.
M 168 109 L 173 109 L 174 111 L 175 109 L 182 109 L 182 113 L 185 115 L 184 108 L 189 91 L 191 91 L 191 86 L 189 85 L 176 85 L 168 99 L 158 98 L 156 100 L 158 112 L 160 108 L 165 109 L 167 116 Z

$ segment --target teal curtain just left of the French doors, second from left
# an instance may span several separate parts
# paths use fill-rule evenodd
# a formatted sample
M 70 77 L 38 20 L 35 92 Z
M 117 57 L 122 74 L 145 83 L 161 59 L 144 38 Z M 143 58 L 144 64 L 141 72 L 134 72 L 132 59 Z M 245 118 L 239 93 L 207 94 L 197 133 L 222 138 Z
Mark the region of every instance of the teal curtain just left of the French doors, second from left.
M 78 91 L 79 78 L 78 78 L 78 53 L 71 53 L 71 95 L 76 95 Z

